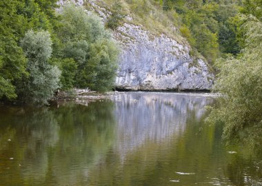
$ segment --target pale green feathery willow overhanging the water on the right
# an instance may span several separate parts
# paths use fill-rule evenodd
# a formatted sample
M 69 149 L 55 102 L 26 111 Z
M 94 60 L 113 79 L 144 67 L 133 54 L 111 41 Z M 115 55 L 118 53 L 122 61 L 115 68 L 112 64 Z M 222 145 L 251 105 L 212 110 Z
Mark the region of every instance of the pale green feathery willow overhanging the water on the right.
M 223 97 L 209 119 L 225 123 L 225 138 L 237 136 L 245 128 L 259 126 L 262 121 L 262 23 L 248 17 L 243 30 L 246 30 L 246 39 L 241 55 L 217 62 L 220 72 L 214 90 Z

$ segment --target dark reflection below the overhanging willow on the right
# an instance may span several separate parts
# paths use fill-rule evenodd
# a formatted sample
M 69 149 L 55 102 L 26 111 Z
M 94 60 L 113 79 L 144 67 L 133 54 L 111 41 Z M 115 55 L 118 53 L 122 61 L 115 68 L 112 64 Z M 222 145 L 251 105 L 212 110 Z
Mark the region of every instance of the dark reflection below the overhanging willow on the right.
M 226 141 L 241 146 L 232 156 L 226 172 L 235 185 L 262 185 L 262 125 L 246 127 L 236 138 Z M 250 176 L 252 175 L 252 176 Z M 258 181 L 259 180 L 259 181 Z

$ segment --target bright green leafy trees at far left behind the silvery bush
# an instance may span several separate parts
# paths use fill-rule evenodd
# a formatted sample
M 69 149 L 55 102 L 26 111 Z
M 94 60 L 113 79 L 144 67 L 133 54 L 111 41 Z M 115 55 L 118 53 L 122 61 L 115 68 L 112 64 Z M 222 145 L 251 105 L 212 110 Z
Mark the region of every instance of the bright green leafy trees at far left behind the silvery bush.
M 48 6 L 40 6 L 39 3 Z M 26 56 L 19 45 L 26 30 L 50 30 L 54 15 L 54 1 L 10 0 L 0 1 L 0 99 L 15 99 L 19 85 L 27 78 Z

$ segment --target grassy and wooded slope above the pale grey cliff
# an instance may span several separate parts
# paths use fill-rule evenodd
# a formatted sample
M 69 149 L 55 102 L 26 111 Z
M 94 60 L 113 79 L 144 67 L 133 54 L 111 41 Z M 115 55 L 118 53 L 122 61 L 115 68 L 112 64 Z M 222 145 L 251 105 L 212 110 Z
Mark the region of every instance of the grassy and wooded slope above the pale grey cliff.
M 105 0 L 99 6 L 133 19 L 154 34 L 164 33 L 180 43 L 189 42 L 192 55 L 203 55 L 209 63 L 225 54 L 239 54 L 239 12 L 243 3 L 232 0 Z M 119 14 L 117 14 L 118 12 Z M 114 19 L 115 21 L 116 19 Z M 122 21 L 122 23 L 123 23 Z M 119 22 L 121 23 L 121 22 Z M 183 39 L 183 36 L 185 39 Z

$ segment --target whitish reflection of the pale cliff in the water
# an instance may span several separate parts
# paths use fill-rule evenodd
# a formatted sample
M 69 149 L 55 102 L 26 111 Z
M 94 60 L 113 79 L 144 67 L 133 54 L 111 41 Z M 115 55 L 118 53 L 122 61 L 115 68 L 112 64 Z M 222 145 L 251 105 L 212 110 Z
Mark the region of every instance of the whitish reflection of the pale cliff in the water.
M 117 144 L 122 156 L 151 141 L 159 143 L 179 136 L 189 117 L 196 121 L 213 99 L 198 94 L 130 93 L 116 99 Z

